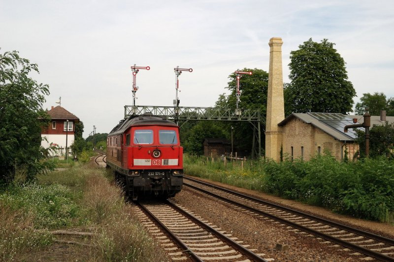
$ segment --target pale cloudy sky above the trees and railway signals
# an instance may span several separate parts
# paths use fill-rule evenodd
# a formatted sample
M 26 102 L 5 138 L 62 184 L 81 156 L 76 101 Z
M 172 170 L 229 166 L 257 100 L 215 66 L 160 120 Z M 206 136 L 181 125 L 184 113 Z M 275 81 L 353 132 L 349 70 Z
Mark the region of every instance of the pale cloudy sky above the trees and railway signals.
M 48 84 L 44 109 L 58 105 L 105 133 L 132 105 L 172 106 L 174 67 L 180 106 L 214 106 L 229 75 L 268 72 L 271 37 L 281 37 L 283 81 L 290 52 L 327 38 L 346 62 L 357 92 L 394 97 L 392 0 L 0 0 L 0 52 L 17 50 Z M 242 100 L 242 97 L 241 97 Z

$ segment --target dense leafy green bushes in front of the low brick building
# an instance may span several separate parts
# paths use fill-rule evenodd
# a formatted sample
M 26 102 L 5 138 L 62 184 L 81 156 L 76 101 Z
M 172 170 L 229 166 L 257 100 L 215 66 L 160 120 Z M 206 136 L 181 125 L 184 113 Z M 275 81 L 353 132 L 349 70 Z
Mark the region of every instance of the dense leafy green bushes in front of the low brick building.
M 264 189 L 358 218 L 394 221 L 394 163 L 385 158 L 340 163 L 332 156 L 265 165 Z

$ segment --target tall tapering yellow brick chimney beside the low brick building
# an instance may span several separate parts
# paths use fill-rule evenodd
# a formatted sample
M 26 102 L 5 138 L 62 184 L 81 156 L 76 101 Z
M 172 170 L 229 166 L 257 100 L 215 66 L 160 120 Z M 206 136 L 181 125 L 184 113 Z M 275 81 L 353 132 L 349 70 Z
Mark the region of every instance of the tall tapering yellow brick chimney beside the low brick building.
M 278 124 L 285 119 L 282 73 L 282 38 L 269 39 L 269 73 L 267 95 L 267 117 L 265 127 L 265 157 L 280 160 L 282 132 Z

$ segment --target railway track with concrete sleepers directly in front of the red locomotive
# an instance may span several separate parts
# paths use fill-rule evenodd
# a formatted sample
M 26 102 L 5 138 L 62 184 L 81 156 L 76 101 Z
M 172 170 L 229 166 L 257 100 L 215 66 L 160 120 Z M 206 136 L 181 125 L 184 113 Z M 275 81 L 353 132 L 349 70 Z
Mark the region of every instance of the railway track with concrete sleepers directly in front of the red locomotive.
M 161 239 L 173 260 L 272 261 L 263 259 L 264 254 L 255 254 L 247 245 L 241 245 L 242 241 L 202 221 L 173 200 L 138 202 L 136 207 L 143 212 L 137 214 L 145 227 Z M 155 225 L 159 225 L 160 230 Z

